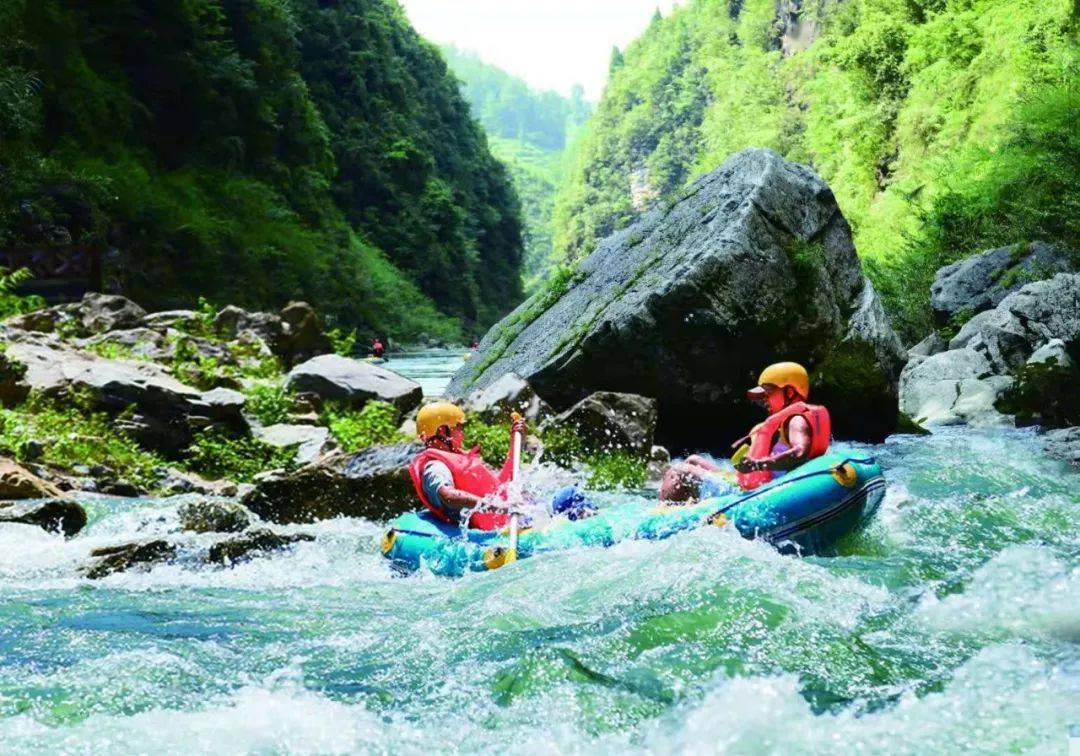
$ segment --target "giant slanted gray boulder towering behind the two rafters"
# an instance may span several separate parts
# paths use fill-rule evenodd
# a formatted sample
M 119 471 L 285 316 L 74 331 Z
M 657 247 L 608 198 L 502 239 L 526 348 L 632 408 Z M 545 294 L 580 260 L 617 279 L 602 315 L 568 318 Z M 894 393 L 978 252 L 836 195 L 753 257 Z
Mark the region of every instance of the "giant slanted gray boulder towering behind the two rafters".
M 810 168 L 750 149 L 518 307 L 449 392 L 516 373 L 557 408 L 654 396 L 665 443 L 715 446 L 760 419 L 744 392 L 781 360 L 811 369 L 839 436 L 893 429 L 906 355 L 836 199 Z

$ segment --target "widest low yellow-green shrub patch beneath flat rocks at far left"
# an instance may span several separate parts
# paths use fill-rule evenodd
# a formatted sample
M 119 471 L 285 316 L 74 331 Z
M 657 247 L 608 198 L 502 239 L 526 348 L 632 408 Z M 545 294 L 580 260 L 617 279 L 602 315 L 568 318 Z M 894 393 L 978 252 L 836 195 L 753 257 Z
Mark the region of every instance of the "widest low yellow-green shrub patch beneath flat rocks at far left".
M 28 459 L 31 441 L 41 444 L 36 460 Z M 16 459 L 45 462 L 62 470 L 103 464 L 145 488 L 153 486 L 156 468 L 165 464 L 161 457 L 118 430 L 113 418 L 94 411 L 80 396 L 59 401 L 31 394 L 15 409 L 0 409 L 0 446 Z

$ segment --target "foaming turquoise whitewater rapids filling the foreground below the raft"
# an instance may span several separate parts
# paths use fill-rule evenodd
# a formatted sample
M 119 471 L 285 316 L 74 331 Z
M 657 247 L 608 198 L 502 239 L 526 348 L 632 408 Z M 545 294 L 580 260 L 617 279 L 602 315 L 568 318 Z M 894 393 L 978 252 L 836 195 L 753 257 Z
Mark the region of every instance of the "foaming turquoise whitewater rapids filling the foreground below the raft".
M 0 750 L 1067 753 L 1080 476 L 1024 432 L 873 448 L 886 501 L 833 558 L 708 528 L 399 578 L 382 524 L 340 519 L 90 582 L 179 500 L 91 500 L 67 542 L 0 527 Z

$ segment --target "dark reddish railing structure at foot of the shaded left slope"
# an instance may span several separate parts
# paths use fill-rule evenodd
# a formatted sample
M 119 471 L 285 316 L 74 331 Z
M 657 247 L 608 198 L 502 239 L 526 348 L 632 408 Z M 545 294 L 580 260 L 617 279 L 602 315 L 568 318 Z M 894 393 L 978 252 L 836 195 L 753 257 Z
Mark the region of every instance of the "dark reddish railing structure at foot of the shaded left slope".
M 0 248 L 0 267 L 28 269 L 33 278 L 19 286 L 19 293 L 37 294 L 49 302 L 71 301 L 86 292 L 102 291 L 102 251 L 95 246 Z

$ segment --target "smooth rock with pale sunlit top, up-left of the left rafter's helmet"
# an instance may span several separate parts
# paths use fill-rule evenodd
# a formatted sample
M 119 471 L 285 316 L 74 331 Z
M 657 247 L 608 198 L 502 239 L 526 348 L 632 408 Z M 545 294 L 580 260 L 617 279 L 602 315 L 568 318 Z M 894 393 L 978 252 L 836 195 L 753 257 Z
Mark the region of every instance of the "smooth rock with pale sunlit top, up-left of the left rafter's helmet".
M 423 391 L 416 381 L 361 360 L 323 354 L 288 373 L 288 388 L 318 394 L 326 402 L 360 409 L 372 400 L 389 402 L 403 413 L 419 406 Z

